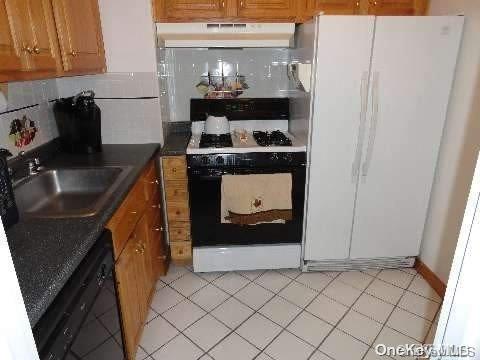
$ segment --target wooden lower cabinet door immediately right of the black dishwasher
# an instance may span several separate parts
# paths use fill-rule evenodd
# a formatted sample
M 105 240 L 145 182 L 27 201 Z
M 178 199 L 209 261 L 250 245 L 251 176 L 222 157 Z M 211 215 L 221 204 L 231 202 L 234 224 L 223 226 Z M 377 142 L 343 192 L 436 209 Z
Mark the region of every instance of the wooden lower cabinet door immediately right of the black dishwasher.
M 122 314 L 123 331 L 130 359 L 135 358 L 138 337 L 142 327 L 141 298 L 139 297 L 139 252 L 137 243 L 129 241 L 115 265 Z

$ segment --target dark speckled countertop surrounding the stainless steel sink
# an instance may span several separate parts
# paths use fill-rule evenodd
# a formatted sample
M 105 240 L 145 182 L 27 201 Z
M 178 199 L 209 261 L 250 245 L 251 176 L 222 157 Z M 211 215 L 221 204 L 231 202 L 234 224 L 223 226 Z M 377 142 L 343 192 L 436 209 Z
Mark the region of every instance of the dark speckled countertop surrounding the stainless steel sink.
M 20 219 L 7 232 L 13 262 L 33 327 L 103 232 L 159 144 L 104 145 L 93 155 L 58 154 L 54 166 L 131 166 L 100 212 L 92 217 Z

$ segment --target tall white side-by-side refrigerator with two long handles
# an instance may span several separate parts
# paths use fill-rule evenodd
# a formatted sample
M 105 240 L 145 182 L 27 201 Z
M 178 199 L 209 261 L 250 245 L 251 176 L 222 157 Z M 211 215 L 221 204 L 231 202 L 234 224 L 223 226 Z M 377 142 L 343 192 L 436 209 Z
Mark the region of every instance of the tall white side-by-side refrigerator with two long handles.
M 310 109 L 305 269 L 413 265 L 463 23 L 319 16 L 299 27 L 293 57 L 313 63 L 310 105 L 297 101 Z

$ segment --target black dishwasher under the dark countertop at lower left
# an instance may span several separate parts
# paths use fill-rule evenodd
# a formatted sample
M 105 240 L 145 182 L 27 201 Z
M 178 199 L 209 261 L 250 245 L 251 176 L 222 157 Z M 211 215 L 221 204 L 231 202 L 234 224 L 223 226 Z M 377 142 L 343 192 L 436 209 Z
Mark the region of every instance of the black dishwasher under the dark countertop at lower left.
M 105 230 L 33 329 L 41 360 L 125 359 L 113 270 Z

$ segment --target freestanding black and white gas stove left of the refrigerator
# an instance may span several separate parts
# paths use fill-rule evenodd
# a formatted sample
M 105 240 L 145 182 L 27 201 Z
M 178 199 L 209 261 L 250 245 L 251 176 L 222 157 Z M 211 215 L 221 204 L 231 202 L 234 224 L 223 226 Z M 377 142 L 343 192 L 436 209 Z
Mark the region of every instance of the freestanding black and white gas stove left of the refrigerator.
M 191 100 L 187 166 L 195 271 L 300 266 L 306 146 L 288 132 L 289 103 L 288 98 Z M 207 113 L 225 114 L 232 133 L 202 132 Z M 291 196 L 290 219 L 254 225 L 224 221 L 224 176 L 277 174 L 291 178 L 291 193 L 281 193 Z

